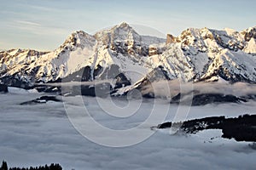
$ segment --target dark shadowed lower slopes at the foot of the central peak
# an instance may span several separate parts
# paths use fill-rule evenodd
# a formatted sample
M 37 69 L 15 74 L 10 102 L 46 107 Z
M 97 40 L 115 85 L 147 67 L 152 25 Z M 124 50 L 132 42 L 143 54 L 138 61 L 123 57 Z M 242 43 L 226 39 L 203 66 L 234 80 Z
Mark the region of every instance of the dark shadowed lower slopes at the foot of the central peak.
M 114 79 L 116 80 L 114 87 L 110 85 L 109 82 L 102 82 L 93 84 L 91 81 L 97 80 L 108 80 Z M 63 78 L 58 79 L 55 82 L 88 82 L 91 85 L 74 85 L 70 87 L 60 87 L 60 86 L 48 86 L 44 85 L 36 85 L 33 88 L 37 89 L 38 92 L 45 93 L 57 93 L 62 95 L 85 95 L 85 96 L 98 96 L 104 97 L 108 94 L 113 93 L 113 89 L 122 88 L 125 86 L 131 85 L 131 82 L 125 77 L 125 74 L 119 71 L 118 65 L 110 65 L 103 71 L 101 65 L 97 65 L 93 70 L 90 66 L 85 66 L 83 69 L 74 72 L 73 74 Z

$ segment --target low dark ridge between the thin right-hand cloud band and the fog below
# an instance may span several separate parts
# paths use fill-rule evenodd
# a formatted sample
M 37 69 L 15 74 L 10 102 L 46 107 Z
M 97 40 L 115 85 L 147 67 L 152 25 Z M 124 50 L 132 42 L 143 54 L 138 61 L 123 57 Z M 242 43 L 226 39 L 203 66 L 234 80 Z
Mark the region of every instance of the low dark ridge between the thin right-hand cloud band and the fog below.
M 186 95 L 186 94 L 183 94 Z M 177 94 L 171 100 L 171 104 L 180 103 L 181 94 Z M 225 94 L 195 94 L 191 102 L 192 106 L 207 105 L 212 103 L 239 103 L 247 102 L 247 99 Z

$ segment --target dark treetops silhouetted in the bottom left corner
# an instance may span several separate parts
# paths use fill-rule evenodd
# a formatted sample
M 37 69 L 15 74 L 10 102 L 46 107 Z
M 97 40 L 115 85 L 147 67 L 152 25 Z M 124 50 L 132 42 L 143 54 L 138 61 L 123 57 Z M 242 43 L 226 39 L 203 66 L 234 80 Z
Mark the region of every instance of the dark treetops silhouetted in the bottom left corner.
M 39 166 L 39 167 L 9 167 L 7 165 L 6 161 L 3 161 L 2 167 L 0 167 L 0 170 L 62 170 L 61 165 L 57 163 L 52 163 L 49 166 Z

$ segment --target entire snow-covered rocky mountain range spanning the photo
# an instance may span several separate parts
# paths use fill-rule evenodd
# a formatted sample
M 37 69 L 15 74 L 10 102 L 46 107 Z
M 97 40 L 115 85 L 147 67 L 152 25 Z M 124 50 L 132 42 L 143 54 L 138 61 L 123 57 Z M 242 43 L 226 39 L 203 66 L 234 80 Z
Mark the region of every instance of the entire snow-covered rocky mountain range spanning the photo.
M 2 51 L 0 80 L 21 88 L 63 79 L 115 79 L 131 87 L 145 84 L 148 77 L 256 82 L 255 38 L 256 27 L 241 32 L 189 28 L 178 37 L 145 37 L 124 22 L 95 35 L 75 31 L 52 52 Z

